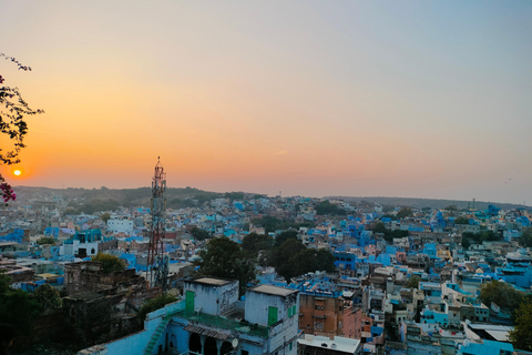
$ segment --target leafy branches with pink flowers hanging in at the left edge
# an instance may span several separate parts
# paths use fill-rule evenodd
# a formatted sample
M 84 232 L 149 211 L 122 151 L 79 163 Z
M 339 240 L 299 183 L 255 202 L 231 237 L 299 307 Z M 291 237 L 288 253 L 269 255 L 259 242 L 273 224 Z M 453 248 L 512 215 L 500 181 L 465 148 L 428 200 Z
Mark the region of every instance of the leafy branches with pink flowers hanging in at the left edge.
M 12 57 L 0 53 L 0 58 L 4 58 L 18 65 L 20 70 L 31 71 L 30 67 L 22 65 Z M 0 84 L 4 82 L 4 78 L 0 75 Z M 0 134 L 6 136 L 11 146 L 0 148 L 0 164 L 12 165 L 20 163 L 20 150 L 25 146 L 24 136 L 28 133 L 28 124 L 24 116 L 43 113 L 41 110 L 32 110 L 28 102 L 22 99 L 17 87 L 0 87 Z M 6 142 L 6 141 L 4 141 Z M 14 201 L 17 194 L 0 174 L 0 194 L 6 205 L 9 201 Z

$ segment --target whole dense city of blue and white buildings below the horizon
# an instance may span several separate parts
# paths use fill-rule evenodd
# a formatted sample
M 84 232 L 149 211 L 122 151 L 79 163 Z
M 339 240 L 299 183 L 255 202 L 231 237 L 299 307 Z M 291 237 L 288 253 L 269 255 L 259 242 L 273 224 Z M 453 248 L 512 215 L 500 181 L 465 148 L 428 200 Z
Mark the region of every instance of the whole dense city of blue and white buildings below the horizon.
M 109 210 L 94 209 L 135 190 L 20 187 L 0 235 L 0 316 L 14 325 L 13 353 L 530 349 L 525 206 L 156 185 L 150 204 Z M 156 216 L 165 193 L 180 197 Z

